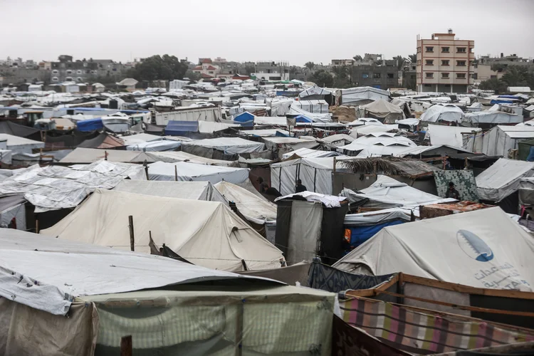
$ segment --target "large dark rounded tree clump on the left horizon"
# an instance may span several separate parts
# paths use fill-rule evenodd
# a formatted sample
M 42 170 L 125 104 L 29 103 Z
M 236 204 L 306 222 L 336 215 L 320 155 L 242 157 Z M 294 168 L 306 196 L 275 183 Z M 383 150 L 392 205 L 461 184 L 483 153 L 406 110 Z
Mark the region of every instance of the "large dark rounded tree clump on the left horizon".
M 187 61 L 164 54 L 145 58 L 132 68 L 129 74 L 137 80 L 174 80 L 184 78 L 187 68 Z

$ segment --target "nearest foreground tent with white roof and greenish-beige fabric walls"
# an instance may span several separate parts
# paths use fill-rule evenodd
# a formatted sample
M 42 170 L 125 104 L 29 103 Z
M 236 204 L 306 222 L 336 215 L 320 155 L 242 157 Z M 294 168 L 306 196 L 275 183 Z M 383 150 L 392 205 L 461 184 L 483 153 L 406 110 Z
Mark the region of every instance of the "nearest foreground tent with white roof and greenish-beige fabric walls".
M 119 355 L 120 336 L 126 334 L 135 340 L 134 355 L 172 350 L 298 355 L 310 345 L 318 345 L 318 355 L 330 355 L 333 293 L 163 256 L 2 231 L 5 355 Z M 266 333 L 266 323 L 283 332 Z M 246 333 L 236 335 L 240 328 Z

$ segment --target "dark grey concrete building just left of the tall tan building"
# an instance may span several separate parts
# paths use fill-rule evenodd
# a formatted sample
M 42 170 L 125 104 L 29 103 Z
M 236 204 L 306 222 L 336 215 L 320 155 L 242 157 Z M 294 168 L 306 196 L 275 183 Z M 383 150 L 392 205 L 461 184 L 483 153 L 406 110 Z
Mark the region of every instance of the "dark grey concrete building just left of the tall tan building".
M 382 63 L 380 66 L 375 64 L 352 66 L 352 83 L 357 87 L 397 88 L 399 86 L 397 62 L 382 61 Z

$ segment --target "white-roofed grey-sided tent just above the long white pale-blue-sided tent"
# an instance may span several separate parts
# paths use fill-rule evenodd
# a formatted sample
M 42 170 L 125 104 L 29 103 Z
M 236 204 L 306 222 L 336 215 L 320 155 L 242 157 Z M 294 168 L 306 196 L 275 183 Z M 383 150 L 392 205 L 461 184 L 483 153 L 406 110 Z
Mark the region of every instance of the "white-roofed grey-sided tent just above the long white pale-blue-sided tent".
M 206 158 L 235 156 L 240 153 L 261 152 L 263 142 L 253 142 L 240 137 L 218 137 L 182 142 L 182 151 Z

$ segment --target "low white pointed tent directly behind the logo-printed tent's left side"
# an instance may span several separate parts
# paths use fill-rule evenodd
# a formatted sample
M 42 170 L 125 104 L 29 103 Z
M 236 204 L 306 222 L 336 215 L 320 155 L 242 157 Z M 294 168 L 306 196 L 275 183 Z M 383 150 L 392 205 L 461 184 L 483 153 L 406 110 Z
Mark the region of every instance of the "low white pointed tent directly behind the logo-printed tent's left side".
M 418 206 L 422 204 L 434 204 L 444 201 L 456 201 L 455 199 L 441 199 L 434 194 L 429 194 L 410 187 L 406 183 L 399 182 L 391 177 L 379 174 L 377 181 L 370 187 L 353 192 L 343 189 L 341 197 L 346 197 L 350 203 L 369 199 L 365 206 L 377 206 L 382 208 L 400 206 Z

